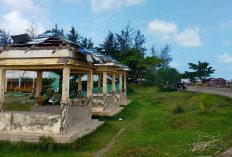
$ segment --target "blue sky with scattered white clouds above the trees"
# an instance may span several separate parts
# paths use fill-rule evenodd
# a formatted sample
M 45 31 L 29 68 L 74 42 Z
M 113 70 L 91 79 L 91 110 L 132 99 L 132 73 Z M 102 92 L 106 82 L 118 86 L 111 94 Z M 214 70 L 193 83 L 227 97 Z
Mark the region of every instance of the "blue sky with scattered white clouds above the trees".
M 130 21 L 146 36 L 146 47 L 171 45 L 170 66 L 179 72 L 188 63 L 206 61 L 212 77 L 232 79 L 231 0 L 0 0 L 0 28 L 11 35 L 37 33 L 58 24 L 71 26 L 98 46 L 108 31 L 119 33 Z M 149 55 L 149 51 L 147 52 Z

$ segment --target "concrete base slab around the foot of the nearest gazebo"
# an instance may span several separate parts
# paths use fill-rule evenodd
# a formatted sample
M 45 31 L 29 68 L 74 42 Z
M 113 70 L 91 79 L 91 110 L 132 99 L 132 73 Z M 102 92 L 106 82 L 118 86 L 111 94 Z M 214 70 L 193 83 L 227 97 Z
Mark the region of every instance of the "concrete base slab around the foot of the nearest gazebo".
M 0 140 L 38 142 L 39 137 L 45 136 L 53 138 L 57 143 L 68 143 L 91 133 L 103 123 L 96 119 L 88 122 L 73 123 L 74 125 L 68 128 L 65 135 L 0 132 Z

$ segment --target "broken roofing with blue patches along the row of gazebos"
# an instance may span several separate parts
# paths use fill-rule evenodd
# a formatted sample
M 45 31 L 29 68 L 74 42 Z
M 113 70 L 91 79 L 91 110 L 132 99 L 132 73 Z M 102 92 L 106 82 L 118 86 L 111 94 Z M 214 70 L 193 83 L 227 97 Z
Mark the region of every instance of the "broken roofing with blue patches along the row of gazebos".
M 93 63 L 94 66 L 115 66 L 120 69 L 125 69 L 126 71 L 129 70 L 127 66 L 120 64 L 111 56 L 103 55 L 95 49 L 87 50 L 54 31 L 46 31 L 34 38 L 30 38 L 28 34 L 16 35 L 12 36 L 12 39 L 14 43 L 4 47 L 3 50 L 0 50 L 0 54 L 7 49 L 14 48 L 24 48 L 26 49 L 25 53 L 33 48 L 53 48 L 52 53 L 55 53 L 61 47 L 69 46 L 74 53 L 85 55 L 86 61 Z

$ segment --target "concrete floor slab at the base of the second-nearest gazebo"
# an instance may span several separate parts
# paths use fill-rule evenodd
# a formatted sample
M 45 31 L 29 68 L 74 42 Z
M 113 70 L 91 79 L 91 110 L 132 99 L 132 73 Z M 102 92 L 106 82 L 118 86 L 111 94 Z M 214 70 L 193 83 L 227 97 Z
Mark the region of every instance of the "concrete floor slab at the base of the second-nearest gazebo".
M 93 108 L 92 109 L 92 115 L 94 115 L 94 116 L 110 116 L 110 117 L 112 117 L 112 116 L 118 114 L 119 112 L 121 112 L 122 109 L 123 109 L 123 107 L 120 107 L 118 105 L 110 106 L 105 111 Z

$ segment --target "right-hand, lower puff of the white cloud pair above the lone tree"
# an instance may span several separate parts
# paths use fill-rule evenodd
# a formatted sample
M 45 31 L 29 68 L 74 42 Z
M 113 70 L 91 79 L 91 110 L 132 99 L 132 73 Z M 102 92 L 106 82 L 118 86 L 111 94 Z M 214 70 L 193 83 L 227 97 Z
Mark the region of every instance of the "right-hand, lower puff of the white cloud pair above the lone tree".
M 181 46 L 197 47 L 202 45 L 198 27 L 185 29 L 183 32 L 177 33 L 174 39 Z

